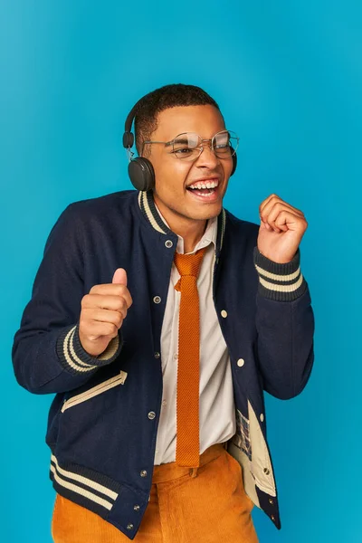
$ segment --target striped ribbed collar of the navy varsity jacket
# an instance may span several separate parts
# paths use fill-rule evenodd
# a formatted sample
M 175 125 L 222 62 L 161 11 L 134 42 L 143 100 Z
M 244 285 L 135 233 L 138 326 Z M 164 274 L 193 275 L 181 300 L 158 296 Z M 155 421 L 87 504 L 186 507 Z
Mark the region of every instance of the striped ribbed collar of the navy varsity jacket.
M 163 221 L 161 215 L 157 212 L 152 190 L 139 191 L 138 205 L 141 212 L 147 218 L 148 222 L 153 226 L 155 230 L 157 230 L 157 232 L 165 234 L 172 233 L 175 235 L 175 233 L 172 232 L 172 230 L 170 230 L 167 224 Z M 226 214 L 223 207 L 221 213 L 217 217 L 216 256 L 219 256 L 223 247 L 225 224 Z

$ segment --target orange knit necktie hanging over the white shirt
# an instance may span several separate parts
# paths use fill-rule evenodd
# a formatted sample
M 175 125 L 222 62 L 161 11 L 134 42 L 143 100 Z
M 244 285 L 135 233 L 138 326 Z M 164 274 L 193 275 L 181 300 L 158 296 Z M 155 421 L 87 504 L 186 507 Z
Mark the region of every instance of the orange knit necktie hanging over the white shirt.
M 175 289 L 181 291 L 178 323 L 176 404 L 176 463 L 197 468 L 200 460 L 200 310 L 197 277 L 205 249 L 193 254 L 175 253 L 181 275 Z

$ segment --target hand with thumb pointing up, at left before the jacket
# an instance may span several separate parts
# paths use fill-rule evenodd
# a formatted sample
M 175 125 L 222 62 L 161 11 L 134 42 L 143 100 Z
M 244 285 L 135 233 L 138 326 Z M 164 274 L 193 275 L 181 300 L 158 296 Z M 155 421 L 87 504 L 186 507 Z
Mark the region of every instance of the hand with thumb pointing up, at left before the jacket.
M 81 300 L 79 336 L 92 357 L 100 355 L 119 333 L 132 298 L 123 268 L 114 272 L 110 284 L 95 285 Z

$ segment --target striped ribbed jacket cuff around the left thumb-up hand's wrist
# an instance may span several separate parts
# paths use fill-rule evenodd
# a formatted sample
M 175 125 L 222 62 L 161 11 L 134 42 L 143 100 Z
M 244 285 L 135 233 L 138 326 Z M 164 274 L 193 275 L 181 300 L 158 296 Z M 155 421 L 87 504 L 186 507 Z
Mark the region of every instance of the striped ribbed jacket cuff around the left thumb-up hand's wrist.
M 122 341 L 120 333 L 110 340 L 105 351 L 98 357 L 92 357 L 81 345 L 79 325 L 68 327 L 58 338 L 57 354 L 64 367 L 71 374 L 82 374 L 95 371 L 97 367 L 110 364 L 119 356 Z

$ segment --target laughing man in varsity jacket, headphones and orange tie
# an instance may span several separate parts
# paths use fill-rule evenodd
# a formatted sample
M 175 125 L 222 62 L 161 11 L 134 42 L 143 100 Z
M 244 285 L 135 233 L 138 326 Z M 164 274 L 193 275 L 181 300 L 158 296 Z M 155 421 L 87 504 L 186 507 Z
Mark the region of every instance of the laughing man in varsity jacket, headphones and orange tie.
M 254 543 L 253 504 L 281 527 L 263 390 L 298 395 L 313 363 L 307 222 L 277 195 L 260 225 L 224 211 L 238 139 L 204 90 L 134 110 L 147 190 L 63 212 L 14 338 L 18 382 L 57 393 L 52 535 Z

